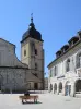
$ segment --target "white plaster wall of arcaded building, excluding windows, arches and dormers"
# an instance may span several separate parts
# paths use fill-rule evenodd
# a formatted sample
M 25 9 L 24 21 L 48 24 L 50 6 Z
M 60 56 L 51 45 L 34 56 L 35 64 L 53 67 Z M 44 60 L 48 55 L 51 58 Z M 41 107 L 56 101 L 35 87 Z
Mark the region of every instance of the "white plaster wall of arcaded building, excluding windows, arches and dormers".
M 55 84 L 57 83 L 57 86 L 59 84 L 59 82 L 62 82 L 62 94 L 65 95 L 65 85 L 66 82 L 69 81 L 71 83 L 71 94 L 70 96 L 74 95 L 74 82 L 76 80 L 81 80 L 81 77 L 79 77 L 78 75 L 78 70 L 76 69 L 76 64 L 77 64 L 77 53 L 81 52 L 81 44 L 77 45 L 73 49 L 71 49 L 70 51 L 68 51 L 66 55 L 62 56 L 62 58 L 58 59 L 57 62 L 54 62 L 53 65 L 49 68 L 49 74 L 50 74 L 50 69 L 55 68 L 55 65 L 58 65 L 58 75 L 57 76 L 53 76 L 49 77 L 48 80 L 48 89 L 50 88 L 49 85 L 50 84 Z M 67 59 L 70 58 L 71 63 L 70 63 L 70 71 L 66 72 L 66 61 Z M 81 69 L 81 68 L 80 68 Z M 62 78 L 57 78 L 60 75 L 65 75 L 65 77 Z M 53 89 L 54 93 L 54 89 Z M 57 89 L 57 94 L 58 94 L 58 89 Z

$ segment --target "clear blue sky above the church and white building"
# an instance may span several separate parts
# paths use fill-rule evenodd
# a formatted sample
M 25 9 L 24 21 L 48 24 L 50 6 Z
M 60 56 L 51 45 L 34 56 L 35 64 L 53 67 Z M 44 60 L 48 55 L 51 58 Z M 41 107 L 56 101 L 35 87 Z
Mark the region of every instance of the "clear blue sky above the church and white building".
M 21 60 L 21 39 L 28 28 L 33 13 L 34 24 L 40 32 L 47 65 L 58 51 L 81 29 L 81 0 L 0 0 L 0 37 L 16 46 Z

